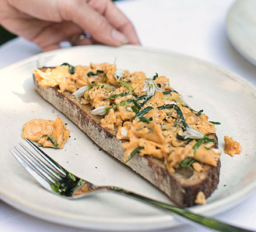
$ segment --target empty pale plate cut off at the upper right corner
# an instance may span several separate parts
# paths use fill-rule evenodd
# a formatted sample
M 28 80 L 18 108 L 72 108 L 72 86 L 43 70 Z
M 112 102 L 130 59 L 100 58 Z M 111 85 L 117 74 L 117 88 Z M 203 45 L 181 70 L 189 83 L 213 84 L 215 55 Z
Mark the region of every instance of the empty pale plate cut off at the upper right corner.
M 256 1 L 238 0 L 226 19 L 227 37 L 248 61 L 256 65 Z

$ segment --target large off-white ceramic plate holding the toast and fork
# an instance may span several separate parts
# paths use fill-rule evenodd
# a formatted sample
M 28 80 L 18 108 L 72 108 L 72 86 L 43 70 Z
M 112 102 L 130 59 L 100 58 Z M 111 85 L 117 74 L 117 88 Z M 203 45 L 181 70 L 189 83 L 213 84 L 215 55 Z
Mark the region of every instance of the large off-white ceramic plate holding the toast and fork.
M 243 146 L 240 155 L 222 154 L 221 180 L 207 205 L 191 208 L 194 212 L 215 215 L 240 202 L 256 187 L 256 89 L 245 79 L 205 61 L 162 50 L 138 46 L 111 48 L 84 46 L 42 53 L 44 66 L 63 62 L 112 63 L 119 68 L 145 71 L 147 75 L 170 77 L 170 84 L 191 107 L 205 113 L 217 126 L 219 146 L 223 136 L 233 136 Z M 168 198 L 150 183 L 88 139 L 72 122 L 45 102 L 34 90 L 32 71 L 39 56 L 15 63 L 0 71 L 0 196 L 2 200 L 35 217 L 70 226 L 104 230 L 150 230 L 180 224 L 171 215 L 119 195 L 101 193 L 70 201 L 48 193 L 10 154 L 9 148 L 23 142 L 22 126 L 32 118 L 67 122 L 71 137 L 63 150 L 44 148 L 56 161 L 75 175 L 95 184 L 113 184 L 160 201 Z

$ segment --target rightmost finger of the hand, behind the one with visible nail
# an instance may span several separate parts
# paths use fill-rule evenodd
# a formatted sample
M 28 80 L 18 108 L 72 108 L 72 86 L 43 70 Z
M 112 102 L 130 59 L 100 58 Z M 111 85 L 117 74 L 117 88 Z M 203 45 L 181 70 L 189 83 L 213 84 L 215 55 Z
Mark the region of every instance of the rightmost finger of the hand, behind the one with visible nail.
M 104 14 L 109 23 L 129 38 L 129 44 L 140 44 L 136 31 L 127 17 L 109 0 L 89 0 L 88 5 Z

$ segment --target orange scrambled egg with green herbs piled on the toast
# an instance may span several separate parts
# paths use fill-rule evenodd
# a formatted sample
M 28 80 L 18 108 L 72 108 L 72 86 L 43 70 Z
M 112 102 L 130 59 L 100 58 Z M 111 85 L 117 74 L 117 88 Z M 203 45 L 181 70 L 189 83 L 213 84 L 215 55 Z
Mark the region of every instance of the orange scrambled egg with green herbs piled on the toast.
M 175 172 L 181 162 L 187 158 L 197 161 L 194 169 L 201 172 L 201 163 L 216 166 L 221 155 L 218 149 L 212 149 L 213 142 L 204 140 L 197 146 L 198 139 L 180 139 L 184 137 L 184 125 L 189 125 L 204 135 L 215 133 L 215 125 L 208 121 L 207 115 L 193 110 L 169 85 L 169 79 L 156 75 L 154 84 L 160 90 L 148 97 L 143 92 L 144 82 L 148 78 L 143 72 L 131 74 L 125 70 L 122 77 L 115 77 L 115 64 L 91 64 L 76 66 L 74 74 L 69 68 L 59 66 L 48 68 L 45 72 L 34 70 L 40 85 L 59 86 L 63 92 L 75 92 L 82 86 L 88 86 L 81 104 L 91 107 L 106 107 L 101 125 L 116 133 L 116 138 L 123 141 L 125 160 L 136 148 L 140 155 L 151 155 L 164 162 L 169 172 Z M 172 104 L 170 108 L 164 108 Z M 160 108 L 158 108 L 160 107 Z M 137 113 L 148 110 L 137 117 Z

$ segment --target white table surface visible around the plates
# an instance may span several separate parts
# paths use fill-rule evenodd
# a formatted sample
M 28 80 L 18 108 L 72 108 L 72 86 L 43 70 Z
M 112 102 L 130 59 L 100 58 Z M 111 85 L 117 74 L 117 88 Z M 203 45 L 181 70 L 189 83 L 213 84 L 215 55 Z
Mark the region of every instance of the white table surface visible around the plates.
M 234 0 L 133 0 L 118 7 L 133 22 L 141 44 L 198 57 L 225 67 L 256 85 L 256 67 L 244 59 L 226 36 L 227 10 Z M 16 38 L 0 46 L 0 68 L 40 52 L 38 46 Z M 256 191 L 239 205 L 216 215 L 223 222 L 256 230 Z M 0 201 L 0 231 L 89 231 L 33 218 Z M 209 231 L 182 226 L 162 231 Z

